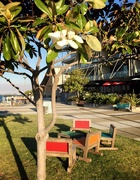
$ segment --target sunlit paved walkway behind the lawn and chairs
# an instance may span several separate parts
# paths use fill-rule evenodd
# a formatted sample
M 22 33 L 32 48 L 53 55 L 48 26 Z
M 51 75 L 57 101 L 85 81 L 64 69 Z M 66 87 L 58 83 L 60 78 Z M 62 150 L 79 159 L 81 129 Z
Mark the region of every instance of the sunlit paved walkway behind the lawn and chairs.
M 0 114 L 36 114 L 31 104 L 19 107 L 0 107 L 0 112 Z M 92 127 L 99 130 L 108 130 L 112 123 L 117 127 L 118 134 L 140 141 L 140 112 L 114 111 L 57 103 L 57 115 L 66 120 L 91 119 Z

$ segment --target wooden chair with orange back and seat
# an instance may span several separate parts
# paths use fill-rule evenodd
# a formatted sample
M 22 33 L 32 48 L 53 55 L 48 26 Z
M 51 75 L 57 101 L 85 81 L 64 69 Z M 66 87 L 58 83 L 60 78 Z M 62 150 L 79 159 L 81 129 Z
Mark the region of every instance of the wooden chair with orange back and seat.
M 79 156 L 78 159 L 84 160 L 86 162 L 91 162 L 92 159 L 87 157 L 88 152 L 91 152 L 93 154 L 103 155 L 101 152 L 99 152 L 100 136 L 101 136 L 100 132 L 94 132 L 94 133 L 90 132 L 87 133 L 86 137 L 73 140 L 73 144 L 75 144 L 77 148 L 83 150 L 83 157 Z

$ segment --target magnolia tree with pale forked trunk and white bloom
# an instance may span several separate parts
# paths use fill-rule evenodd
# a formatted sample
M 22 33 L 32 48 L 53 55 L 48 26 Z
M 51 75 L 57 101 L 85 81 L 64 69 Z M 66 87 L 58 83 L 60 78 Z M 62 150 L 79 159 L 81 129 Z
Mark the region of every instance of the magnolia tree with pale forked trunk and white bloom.
M 112 4 L 112 1 L 109 2 Z M 103 17 L 105 10 L 108 11 L 108 9 L 105 9 L 104 0 L 29 1 L 27 4 L 32 4 L 30 9 L 32 16 L 24 13 L 23 7 L 26 3 L 24 0 L 22 0 L 22 4 L 12 2 L 12 0 L 0 1 L 0 75 L 6 79 L 5 72 L 9 72 L 30 79 L 34 100 L 26 96 L 11 80 L 7 79 L 7 81 L 26 96 L 37 109 L 37 179 L 44 180 L 46 179 L 45 143 L 49 137 L 48 132 L 54 126 L 57 118 L 55 96 L 60 75 L 76 63 L 87 63 L 95 51 L 101 51 L 103 39 L 105 39 L 104 42 L 107 42 L 107 48 L 109 48 L 115 40 L 114 35 L 120 35 L 120 31 L 118 30 L 116 34 L 115 32 L 111 33 L 109 36 L 112 35 L 113 40 L 110 40 L 110 37 L 107 36 L 109 28 L 104 29 L 109 25 L 102 24 L 101 21 L 96 22 L 99 16 Z M 96 13 L 95 16 L 94 12 Z M 115 12 L 113 15 L 115 17 Z M 99 18 L 99 20 L 101 19 Z M 138 33 L 135 33 L 136 37 L 139 37 Z M 125 33 L 123 36 L 125 37 Z M 137 43 L 137 41 L 135 40 L 134 43 Z M 113 50 L 117 47 L 117 44 L 115 44 Z M 119 48 L 123 48 L 123 46 L 120 45 Z M 42 56 L 42 50 L 43 53 L 45 51 L 45 58 Z M 59 53 L 64 51 L 67 54 L 65 53 L 64 57 L 58 59 Z M 80 54 L 77 61 L 62 66 L 56 74 L 55 64 L 62 62 L 73 53 Z M 31 59 L 37 56 L 37 62 L 34 61 L 36 63 L 35 68 L 28 61 L 27 54 L 27 57 Z M 41 67 L 41 62 L 44 60 L 46 65 Z M 19 66 L 26 71 L 17 71 L 16 69 Z M 42 72 L 44 77 L 39 82 L 39 75 Z M 54 79 L 52 84 L 52 120 L 45 127 L 43 91 L 51 76 Z

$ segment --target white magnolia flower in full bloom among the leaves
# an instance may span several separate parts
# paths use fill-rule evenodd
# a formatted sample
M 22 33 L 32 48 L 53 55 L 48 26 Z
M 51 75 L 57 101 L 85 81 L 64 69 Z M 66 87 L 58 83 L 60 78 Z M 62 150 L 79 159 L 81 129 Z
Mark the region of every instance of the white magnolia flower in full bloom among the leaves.
M 74 49 L 78 49 L 78 45 L 75 41 L 83 43 L 83 39 L 80 36 L 75 35 L 74 31 L 56 31 L 54 33 L 49 33 L 48 36 L 52 39 L 53 44 L 56 43 L 56 49 L 62 49 L 67 45 L 71 46 Z

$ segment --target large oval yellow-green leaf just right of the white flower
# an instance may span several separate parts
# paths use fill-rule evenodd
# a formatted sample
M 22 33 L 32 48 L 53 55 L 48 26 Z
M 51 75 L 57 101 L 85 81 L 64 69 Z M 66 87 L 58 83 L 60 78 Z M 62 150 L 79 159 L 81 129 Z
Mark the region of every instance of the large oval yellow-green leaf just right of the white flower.
M 94 51 L 101 51 L 101 43 L 95 36 L 86 35 L 86 42 Z

